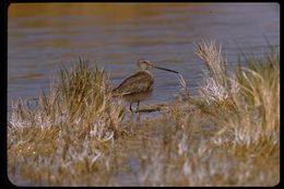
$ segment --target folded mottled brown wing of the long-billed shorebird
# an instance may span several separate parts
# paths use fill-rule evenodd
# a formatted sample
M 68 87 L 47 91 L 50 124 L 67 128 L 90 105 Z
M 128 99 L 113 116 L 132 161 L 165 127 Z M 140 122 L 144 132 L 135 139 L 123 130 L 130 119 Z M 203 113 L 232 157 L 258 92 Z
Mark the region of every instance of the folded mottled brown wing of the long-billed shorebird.
M 147 92 L 154 83 L 151 74 L 144 71 L 138 71 L 133 75 L 127 78 L 113 92 L 115 94 L 133 94 Z

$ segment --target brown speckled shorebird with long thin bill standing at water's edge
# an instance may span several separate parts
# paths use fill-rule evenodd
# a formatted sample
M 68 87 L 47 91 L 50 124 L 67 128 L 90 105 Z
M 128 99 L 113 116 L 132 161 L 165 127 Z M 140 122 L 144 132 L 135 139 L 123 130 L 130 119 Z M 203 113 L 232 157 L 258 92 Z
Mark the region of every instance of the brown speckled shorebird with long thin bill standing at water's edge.
M 122 96 L 130 103 L 129 109 L 132 110 L 132 103 L 137 103 L 137 111 L 139 113 L 139 104 L 147 99 L 153 92 L 154 78 L 150 72 L 151 68 L 178 73 L 177 71 L 166 68 L 156 67 L 149 60 L 141 59 L 137 63 L 139 70 L 125 79 L 117 87 L 113 90 L 113 96 Z

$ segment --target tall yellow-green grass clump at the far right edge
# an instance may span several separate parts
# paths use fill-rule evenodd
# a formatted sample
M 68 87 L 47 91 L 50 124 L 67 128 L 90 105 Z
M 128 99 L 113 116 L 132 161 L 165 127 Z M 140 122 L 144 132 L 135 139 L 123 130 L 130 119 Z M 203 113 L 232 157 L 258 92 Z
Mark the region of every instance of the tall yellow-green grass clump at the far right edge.
M 237 66 L 233 95 L 236 111 L 224 119 L 238 141 L 251 143 L 268 138 L 279 141 L 280 130 L 280 62 L 276 54 L 265 60 L 248 59 L 248 68 Z

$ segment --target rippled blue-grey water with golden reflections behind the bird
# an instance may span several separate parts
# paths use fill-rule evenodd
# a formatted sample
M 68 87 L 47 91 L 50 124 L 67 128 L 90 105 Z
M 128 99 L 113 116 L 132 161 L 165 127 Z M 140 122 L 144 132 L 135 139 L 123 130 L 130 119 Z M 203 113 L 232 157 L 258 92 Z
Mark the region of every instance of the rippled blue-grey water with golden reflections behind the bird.
M 145 58 L 179 71 L 196 94 L 204 68 L 194 55 L 201 39 L 221 43 L 230 68 L 240 55 L 238 47 L 262 57 L 269 51 L 265 38 L 280 45 L 277 3 L 22 5 L 9 8 L 8 113 L 11 101 L 48 91 L 59 64 L 71 64 L 79 56 L 104 67 L 113 85 Z M 176 75 L 153 74 L 153 96 L 143 103 L 173 99 L 179 91 Z

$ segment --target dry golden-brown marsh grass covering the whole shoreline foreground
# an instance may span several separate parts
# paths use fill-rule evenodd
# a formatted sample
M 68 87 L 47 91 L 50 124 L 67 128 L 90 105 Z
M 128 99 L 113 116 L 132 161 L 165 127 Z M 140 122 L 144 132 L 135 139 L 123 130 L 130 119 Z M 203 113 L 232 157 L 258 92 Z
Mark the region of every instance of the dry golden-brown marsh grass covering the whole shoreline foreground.
M 280 181 L 280 61 L 246 57 L 227 74 L 215 42 L 201 43 L 200 94 L 126 122 L 104 70 L 80 59 L 38 106 L 20 101 L 8 123 L 8 173 L 27 186 L 274 186 Z M 187 85 L 180 79 L 184 91 Z M 137 167 L 129 162 L 135 160 Z M 121 175 L 128 175 L 127 181 Z

